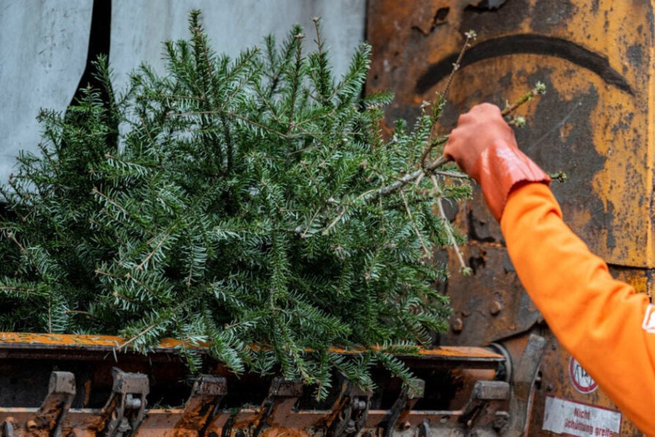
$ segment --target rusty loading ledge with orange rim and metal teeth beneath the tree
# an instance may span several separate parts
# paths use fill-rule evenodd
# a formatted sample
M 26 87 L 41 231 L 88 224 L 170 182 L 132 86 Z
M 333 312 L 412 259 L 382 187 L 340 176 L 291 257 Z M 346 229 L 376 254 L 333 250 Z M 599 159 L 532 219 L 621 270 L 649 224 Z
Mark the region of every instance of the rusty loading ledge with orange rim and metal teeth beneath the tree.
M 349 387 L 331 405 L 322 405 L 297 381 L 236 376 L 208 356 L 206 374 L 189 388 L 189 371 L 168 341 L 143 355 L 116 349 L 122 339 L 114 337 L 0 333 L 0 338 L 0 423 L 14 436 L 62 429 L 61 435 L 78 437 L 350 437 L 362 430 L 388 434 L 429 423 L 430 435 L 445 435 L 444 429 L 453 435 L 465 429 L 495 435 L 493 412 L 507 403 L 484 400 L 492 418 L 482 414 L 475 423 L 462 423 L 476 383 L 494 380 L 507 359 L 482 347 L 435 347 L 399 357 L 425 378 L 424 392 L 403 392 L 401 380 L 380 368 L 373 369 L 375 396 Z M 71 377 L 51 379 L 48 389 L 48 375 Z

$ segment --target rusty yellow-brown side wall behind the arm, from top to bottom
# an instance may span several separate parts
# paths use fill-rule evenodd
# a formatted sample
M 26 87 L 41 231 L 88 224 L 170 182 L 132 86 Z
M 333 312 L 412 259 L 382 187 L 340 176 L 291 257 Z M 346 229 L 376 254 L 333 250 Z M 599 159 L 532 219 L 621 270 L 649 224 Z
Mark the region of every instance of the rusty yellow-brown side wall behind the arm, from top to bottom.
M 545 96 L 520 108 L 521 149 L 548 172 L 564 219 L 612 274 L 652 295 L 655 272 L 654 2 L 650 0 L 369 0 L 373 46 L 367 91 L 393 90 L 386 113 L 413 121 L 423 101 L 443 90 L 464 32 L 478 38 L 453 79 L 441 120 L 448 132 L 472 105 L 514 101 L 534 83 Z M 439 153 L 437 150 L 436 153 Z M 445 345 L 512 343 L 537 330 L 550 338 L 510 263 L 499 226 L 479 187 L 453 221 L 468 236 L 464 256 L 475 274 L 453 274 L 443 291 L 454 314 Z M 450 272 L 453 254 L 438 254 Z M 530 435 L 541 430 L 549 393 L 581 401 L 570 388 L 568 353 L 545 354 Z M 544 387 L 550 387 L 548 391 Z M 613 409 L 601 392 L 585 400 Z M 623 420 L 621 434 L 641 435 Z

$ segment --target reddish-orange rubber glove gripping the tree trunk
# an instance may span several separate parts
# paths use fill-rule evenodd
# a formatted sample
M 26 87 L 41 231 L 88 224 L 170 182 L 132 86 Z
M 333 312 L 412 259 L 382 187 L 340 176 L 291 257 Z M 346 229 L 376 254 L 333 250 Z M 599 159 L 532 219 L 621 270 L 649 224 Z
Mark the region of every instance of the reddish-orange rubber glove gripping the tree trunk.
M 490 103 L 459 116 L 444 155 L 482 187 L 489 210 L 500 221 L 510 191 L 519 183 L 550 183 L 550 176 L 523 154 L 500 109 Z

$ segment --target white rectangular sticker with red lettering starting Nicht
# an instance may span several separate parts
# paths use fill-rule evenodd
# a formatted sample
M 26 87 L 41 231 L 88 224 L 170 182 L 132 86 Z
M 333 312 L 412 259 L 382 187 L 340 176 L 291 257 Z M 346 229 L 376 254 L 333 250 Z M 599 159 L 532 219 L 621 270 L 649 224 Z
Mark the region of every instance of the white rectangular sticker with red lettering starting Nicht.
M 542 428 L 570 436 L 611 437 L 621 431 L 621 413 L 547 396 Z

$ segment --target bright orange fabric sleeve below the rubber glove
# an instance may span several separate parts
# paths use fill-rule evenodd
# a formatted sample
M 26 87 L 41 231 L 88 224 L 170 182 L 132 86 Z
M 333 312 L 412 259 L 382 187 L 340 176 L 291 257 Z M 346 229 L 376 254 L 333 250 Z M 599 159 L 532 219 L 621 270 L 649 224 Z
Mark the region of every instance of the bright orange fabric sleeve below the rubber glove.
M 547 185 L 508 198 L 501 230 L 523 287 L 560 343 L 623 414 L 655 436 L 655 322 L 649 298 L 616 281 L 562 221 Z M 655 323 L 653 323 L 655 325 Z

